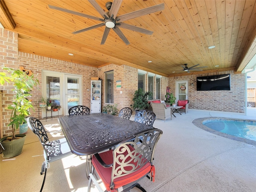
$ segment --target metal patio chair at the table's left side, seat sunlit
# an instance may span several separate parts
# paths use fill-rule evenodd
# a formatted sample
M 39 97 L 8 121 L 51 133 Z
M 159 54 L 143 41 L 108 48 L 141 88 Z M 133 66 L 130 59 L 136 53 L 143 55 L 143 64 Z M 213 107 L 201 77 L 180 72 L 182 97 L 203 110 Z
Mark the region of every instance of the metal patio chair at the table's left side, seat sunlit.
M 46 171 L 48 168 L 50 168 L 50 162 L 70 156 L 72 152 L 70 151 L 66 138 L 49 141 L 47 136 L 48 131 L 44 129 L 42 122 L 40 122 L 40 120 L 37 118 L 29 117 L 28 127 L 32 130 L 32 132 L 34 132 L 34 134 L 36 134 L 44 149 L 44 162 L 40 172 L 41 175 L 44 174 L 44 180 L 40 190 L 40 192 L 42 192 L 46 179 Z

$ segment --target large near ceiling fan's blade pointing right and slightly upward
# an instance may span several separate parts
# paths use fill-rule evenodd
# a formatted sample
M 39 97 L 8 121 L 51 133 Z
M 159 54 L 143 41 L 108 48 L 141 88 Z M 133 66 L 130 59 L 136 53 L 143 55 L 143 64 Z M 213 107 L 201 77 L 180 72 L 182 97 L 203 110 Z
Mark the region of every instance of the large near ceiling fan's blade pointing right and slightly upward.
M 116 19 L 119 19 L 117 21 L 117 23 L 129 20 L 129 19 L 133 19 L 133 18 L 136 18 L 136 17 L 140 17 L 142 15 L 147 15 L 147 14 L 150 14 L 150 13 L 153 13 L 153 12 L 156 12 L 156 11 L 160 11 L 160 10 L 163 10 L 163 9 L 164 9 L 164 3 L 154 5 L 154 6 L 151 6 L 151 7 L 148 7 L 148 8 L 144 8 L 144 9 L 141 9 L 141 10 L 137 10 L 137 11 L 134 11 L 134 12 L 126 13 L 126 14 L 123 14 L 123 15 L 120 15 L 120 16 L 116 17 Z

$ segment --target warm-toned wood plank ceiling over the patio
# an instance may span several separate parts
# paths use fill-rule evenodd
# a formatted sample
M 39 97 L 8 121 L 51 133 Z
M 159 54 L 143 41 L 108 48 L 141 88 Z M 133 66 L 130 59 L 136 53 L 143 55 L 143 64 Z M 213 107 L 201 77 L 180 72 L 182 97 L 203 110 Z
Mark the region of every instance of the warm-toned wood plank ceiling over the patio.
M 107 12 L 108 0 L 96 2 Z M 239 73 L 256 55 L 256 0 L 123 0 L 117 16 L 161 3 L 164 10 L 124 22 L 154 32 L 121 28 L 129 45 L 113 30 L 101 45 L 104 26 L 72 34 L 100 21 L 48 6 L 102 18 L 87 0 L 1 0 L 0 22 L 18 33 L 21 52 L 95 67 L 126 64 L 163 76 L 187 74 L 183 64 Z

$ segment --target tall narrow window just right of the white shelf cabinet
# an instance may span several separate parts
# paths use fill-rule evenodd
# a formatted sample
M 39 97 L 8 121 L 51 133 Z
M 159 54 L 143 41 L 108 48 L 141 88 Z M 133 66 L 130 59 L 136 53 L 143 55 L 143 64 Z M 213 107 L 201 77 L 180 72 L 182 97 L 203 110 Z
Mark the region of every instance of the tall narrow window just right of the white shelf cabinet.
M 105 73 L 105 103 L 114 104 L 114 71 Z

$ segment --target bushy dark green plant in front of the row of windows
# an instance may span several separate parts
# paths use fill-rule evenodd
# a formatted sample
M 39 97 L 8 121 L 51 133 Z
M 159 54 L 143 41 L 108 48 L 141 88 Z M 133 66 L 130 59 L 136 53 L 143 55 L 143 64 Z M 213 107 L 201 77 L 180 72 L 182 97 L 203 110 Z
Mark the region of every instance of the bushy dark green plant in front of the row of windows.
M 152 92 L 144 92 L 142 88 L 139 88 L 134 92 L 133 96 L 133 108 L 136 110 L 142 110 L 148 108 L 148 96 L 152 96 Z

